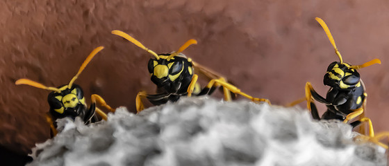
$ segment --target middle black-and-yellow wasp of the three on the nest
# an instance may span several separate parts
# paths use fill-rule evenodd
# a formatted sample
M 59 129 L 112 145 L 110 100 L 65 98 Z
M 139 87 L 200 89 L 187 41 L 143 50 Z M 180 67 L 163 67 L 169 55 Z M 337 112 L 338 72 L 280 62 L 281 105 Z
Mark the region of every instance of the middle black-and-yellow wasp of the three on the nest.
M 195 39 L 188 40 L 188 42 L 185 42 L 185 44 L 175 52 L 157 54 L 122 31 L 113 30 L 112 33 L 129 40 L 129 42 L 132 42 L 153 55 L 153 57 L 149 59 L 147 68 L 150 73 L 151 81 L 157 86 L 157 94 L 150 95 L 144 91 L 138 93 L 135 98 L 138 112 L 144 109 L 142 98 L 147 98 L 151 104 L 159 105 L 165 104 L 167 101 L 175 102 L 176 100 L 179 100 L 181 96 L 210 95 L 220 86 L 222 86 L 224 91 L 224 100 L 231 100 L 231 93 L 234 93 L 243 95 L 254 102 L 267 102 L 270 104 L 270 101 L 267 99 L 253 98 L 251 95 L 241 92 L 240 89 L 227 82 L 220 74 L 193 62 L 191 58 L 186 57 L 181 53 L 188 48 L 188 46 L 197 44 Z M 201 86 L 197 82 L 199 76 L 195 74 L 195 71 L 199 71 L 210 78 L 210 82 L 208 82 L 207 86 L 203 89 L 201 89 Z

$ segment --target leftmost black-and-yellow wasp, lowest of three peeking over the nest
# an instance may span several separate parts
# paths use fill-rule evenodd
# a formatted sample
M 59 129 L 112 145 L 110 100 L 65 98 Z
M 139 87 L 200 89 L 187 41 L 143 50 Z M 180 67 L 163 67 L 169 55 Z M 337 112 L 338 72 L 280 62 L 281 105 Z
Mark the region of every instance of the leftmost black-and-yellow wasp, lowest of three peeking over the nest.
M 44 86 L 38 82 L 34 82 L 32 80 L 28 80 L 25 78 L 19 79 L 15 82 L 15 84 L 26 84 L 29 86 L 34 86 L 39 89 L 46 89 L 51 91 L 47 97 L 47 101 L 49 102 L 49 113 L 46 114 L 46 120 L 50 125 L 51 134 L 56 136 L 58 131 L 56 130 L 56 120 L 60 118 L 72 118 L 73 120 L 76 117 L 80 117 L 85 124 L 90 124 L 91 122 L 97 122 L 98 118 L 95 113 L 99 114 L 102 119 L 106 120 L 107 115 L 99 108 L 96 107 L 96 102 L 99 102 L 102 107 L 105 107 L 109 111 L 114 112 L 115 109 L 112 109 L 103 98 L 99 95 L 92 94 L 91 100 L 92 103 L 88 109 L 87 104 L 85 103 L 85 98 L 83 95 L 83 90 L 81 86 L 74 84 L 74 81 L 78 78 L 78 75 L 84 70 L 84 68 L 88 65 L 90 60 L 99 53 L 100 50 L 104 49 L 103 46 L 99 46 L 95 48 L 92 53 L 85 59 L 81 67 L 79 68 L 76 75 L 70 80 L 69 84 L 51 87 Z

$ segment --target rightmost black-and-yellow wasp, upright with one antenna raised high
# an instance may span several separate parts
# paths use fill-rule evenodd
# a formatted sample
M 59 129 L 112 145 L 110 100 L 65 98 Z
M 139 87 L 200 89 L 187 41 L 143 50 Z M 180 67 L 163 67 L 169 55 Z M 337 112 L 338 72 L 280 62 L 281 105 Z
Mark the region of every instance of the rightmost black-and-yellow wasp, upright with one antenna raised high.
M 336 47 L 335 41 L 331 35 L 331 32 L 329 31 L 329 28 L 326 26 L 326 23 L 318 17 L 315 19 L 324 29 L 324 32 L 335 49 L 336 55 L 339 57 L 339 62 L 332 62 L 329 64 L 326 70 L 326 74 L 324 75 L 324 85 L 330 86 L 329 91 L 326 93 L 326 98 L 319 95 L 315 89 L 313 89 L 311 82 L 306 82 L 306 97 L 302 100 L 292 102 L 290 105 L 294 105 L 306 100 L 307 107 L 309 110 L 311 110 L 312 117 L 316 120 L 336 119 L 347 123 L 359 116 L 358 120 L 349 124 L 351 124 L 351 126 L 354 128 L 363 122 L 367 122 L 369 128 L 368 136 L 371 138 L 370 140 L 373 140 L 373 142 L 376 142 L 377 144 L 388 149 L 386 145 L 383 145 L 381 142 L 377 141 L 378 139 L 384 137 L 382 136 L 383 134 L 379 134 L 379 138 L 374 138 L 372 121 L 370 118 L 367 118 L 364 115 L 364 111 L 366 110 L 367 93 L 365 93 L 365 85 L 361 80 L 361 75 L 359 75 L 357 71 L 360 68 L 371 66 L 372 64 L 381 64 L 381 60 L 372 59 L 365 64 L 356 66 L 343 62 L 342 55 L 340 55 L 340 52 Z M 324 112 L 324 114 L 322 114 L 321 117 L 317 112 L 317 108 L 314 102 L 315 100 L 317 102 L 326 104 L 327 110 Z M 360 133 L 365 133 L 364 127 L 361 127 Z

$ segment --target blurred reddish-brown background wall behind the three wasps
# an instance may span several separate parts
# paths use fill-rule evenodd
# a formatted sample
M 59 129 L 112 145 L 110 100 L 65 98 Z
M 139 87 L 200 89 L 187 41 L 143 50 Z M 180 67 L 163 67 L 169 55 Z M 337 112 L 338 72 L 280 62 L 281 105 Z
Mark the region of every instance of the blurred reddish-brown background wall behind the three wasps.
M 88 102 L 97 93 L 113 107 L 135 110 L 138 91 L 154 92 L 151 55 L 111 35 L 115 29 L 156 53 L 197 39 L 185 55 L 272 104 L 303 97 L 307 81 L 325 96 L 323 75 L 338 57 L 315 17 L 326 21 L 345 62 L 382 60 L 359 73 L 367 116 L 376 131 L 388 131 L 389 1 L 13 0 L 0 1 L 0 145 L 23 156 L 49 138 L 49 91 L 15 80 L 67 84 L 97 46 L 106 48 L 76 80 Z

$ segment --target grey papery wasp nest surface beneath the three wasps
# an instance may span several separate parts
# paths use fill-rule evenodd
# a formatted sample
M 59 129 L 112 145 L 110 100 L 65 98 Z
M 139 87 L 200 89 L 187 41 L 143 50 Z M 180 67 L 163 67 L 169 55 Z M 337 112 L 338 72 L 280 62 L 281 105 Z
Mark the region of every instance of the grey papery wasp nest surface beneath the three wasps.
M 356 144 L 351 126 L 308 111 L 253 102 L 183 98 L 135 115 L 124 107 L 33 149 L 29 165 L 386 165 L 385 151 Z

